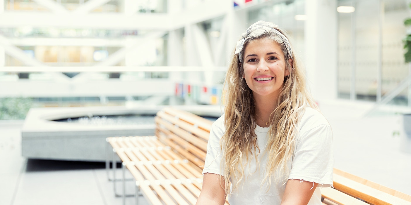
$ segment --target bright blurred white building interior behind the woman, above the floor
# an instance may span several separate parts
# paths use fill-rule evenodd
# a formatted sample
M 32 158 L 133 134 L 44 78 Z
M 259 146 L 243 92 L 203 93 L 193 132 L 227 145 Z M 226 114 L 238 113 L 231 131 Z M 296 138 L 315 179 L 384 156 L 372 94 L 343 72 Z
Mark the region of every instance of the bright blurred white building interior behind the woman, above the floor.
M 408 3 L 0 0 L 0 102 L 21 108 L 220 104 L 236 41 L 264 20 L 289 33 L 319 103 L 407 107 Z

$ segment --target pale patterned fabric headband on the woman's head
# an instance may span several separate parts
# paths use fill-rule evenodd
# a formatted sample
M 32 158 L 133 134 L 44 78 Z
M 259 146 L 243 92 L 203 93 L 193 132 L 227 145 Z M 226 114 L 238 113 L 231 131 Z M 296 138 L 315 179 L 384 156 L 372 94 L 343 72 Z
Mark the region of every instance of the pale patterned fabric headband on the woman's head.
M 277 34 L 277 36 L 280 37 L 280 39 L 284 42 L 285 48 L 287 49 L 287 52 L 288 52 L 288 58 L 293 59 L 293 51 L 291 50 L 290 42 L 288 41 L 286 36 L 284 36 L 281 32 L 277 30 L 278 26 L 271 22 L 258 21 L 254 23 L 253 25 L 251 25 L 250 27 L 248 27 L 247 31 L 242 34 L 242 38 L 240 39 L 240 41 L 237 41 L 236 52 L 234 52 L 234 54 L 238 53 L 238 59 L 240 60 L 240 62 L 242 62 L 242 52 L 243 52 L 242 48 L 244 46 L 245 40 L 247 39 L 250 33 L 254 32 L 257 29 L 261 29 L 261 28 L 272 29 L 272 31 L 275 34 Z

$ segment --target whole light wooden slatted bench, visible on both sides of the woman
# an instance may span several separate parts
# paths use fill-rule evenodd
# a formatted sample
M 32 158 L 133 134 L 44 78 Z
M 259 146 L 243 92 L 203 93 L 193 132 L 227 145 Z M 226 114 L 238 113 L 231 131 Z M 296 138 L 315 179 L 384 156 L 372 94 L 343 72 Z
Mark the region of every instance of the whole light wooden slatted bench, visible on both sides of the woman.
M 136 180 L 137 204 L 140 192 L 150 204 L 195 204 L 212 122 L 164 108 L 157 113 L 155 123 L 156 136 L 107 138 L 122 161 L 123 199 L 127 168 Z M 409 195 L 338 169 L 334 169 L 333 184 L 333 188 L 321 189 L 323 205 L 411 205 Z

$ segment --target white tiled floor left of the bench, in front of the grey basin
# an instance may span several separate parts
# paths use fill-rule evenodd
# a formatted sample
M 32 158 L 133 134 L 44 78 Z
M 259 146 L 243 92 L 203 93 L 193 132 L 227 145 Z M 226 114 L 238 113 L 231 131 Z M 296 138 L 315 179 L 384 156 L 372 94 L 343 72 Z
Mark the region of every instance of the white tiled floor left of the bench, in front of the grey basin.
M 0 125 L 0 205 L 121 205 L 103 163 L 21 157 L 21 125 Z M 120 169 L 118 171 L 120 174 Z M 127 192 L 134 193 L 133 182 Z M 121 184 L 117 183 L 118 192 Z M 128 197 L 126 204 L 135 204 Z M 140 204 L 148 203 L 141 196 Z

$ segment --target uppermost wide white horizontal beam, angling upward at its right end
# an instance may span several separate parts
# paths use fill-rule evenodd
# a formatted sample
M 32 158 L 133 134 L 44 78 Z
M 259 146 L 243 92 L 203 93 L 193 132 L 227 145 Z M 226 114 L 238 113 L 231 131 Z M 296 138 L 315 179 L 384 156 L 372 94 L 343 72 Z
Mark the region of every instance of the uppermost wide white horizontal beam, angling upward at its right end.
M 91 0 L 90 0 L 91 1 Z M 96 0 L 97 1 L 97 0 Z M 87 4 L 87 2 L 85 3 Z M 45 12 L 5 11 L 0 14 L 0 27 L 75 27 L 87 29 L 129 29 L 169 31 L 223 16 L 227 13 L 226 1 L 208 0 L 191 9 L 174 14 L 90 13 L 74 12 L 52 14 Z

